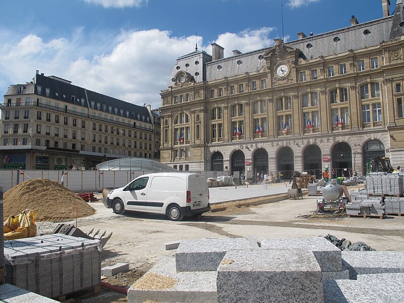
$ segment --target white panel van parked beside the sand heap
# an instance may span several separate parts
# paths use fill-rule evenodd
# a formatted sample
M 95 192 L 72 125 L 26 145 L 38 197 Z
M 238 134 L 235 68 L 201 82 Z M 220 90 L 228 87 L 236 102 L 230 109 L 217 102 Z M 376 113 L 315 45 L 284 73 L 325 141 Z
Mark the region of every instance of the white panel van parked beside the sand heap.
M 170 220 L 209 212 L 209 189 L 204 176 L 191 173 L 154 173 L 137 177 L 107 196 L 115 214 L 125 211 L 166 214 Z

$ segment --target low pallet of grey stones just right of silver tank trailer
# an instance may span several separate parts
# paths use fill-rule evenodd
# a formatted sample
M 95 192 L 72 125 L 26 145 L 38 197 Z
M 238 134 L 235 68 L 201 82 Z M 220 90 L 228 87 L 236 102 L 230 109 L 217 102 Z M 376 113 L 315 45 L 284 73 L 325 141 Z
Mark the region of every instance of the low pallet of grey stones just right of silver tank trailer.
M 352 200 L 352 202 L 346 204 L 346 214 L 348 216 L 383 216 L 385 213 L 383 200 L 384 198 L 382 197 Z

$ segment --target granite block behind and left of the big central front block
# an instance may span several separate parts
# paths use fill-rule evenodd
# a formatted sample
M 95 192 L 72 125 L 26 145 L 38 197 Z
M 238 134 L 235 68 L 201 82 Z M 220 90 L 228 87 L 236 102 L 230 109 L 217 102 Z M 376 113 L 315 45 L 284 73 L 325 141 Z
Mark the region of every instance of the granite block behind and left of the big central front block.
M 216 271 L 228 250 L 249 248 L 245 238 L 183 240 L 175 254 L 177 271 Z

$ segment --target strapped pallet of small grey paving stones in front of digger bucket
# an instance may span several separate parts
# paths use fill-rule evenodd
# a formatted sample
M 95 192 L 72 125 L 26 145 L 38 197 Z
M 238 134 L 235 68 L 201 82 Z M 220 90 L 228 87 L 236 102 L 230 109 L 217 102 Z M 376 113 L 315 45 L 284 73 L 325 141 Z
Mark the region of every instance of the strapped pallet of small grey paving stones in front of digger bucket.
M 6 282 L 47 297 L 99 285 L 99 240 L 51 234 L 4 242 Z

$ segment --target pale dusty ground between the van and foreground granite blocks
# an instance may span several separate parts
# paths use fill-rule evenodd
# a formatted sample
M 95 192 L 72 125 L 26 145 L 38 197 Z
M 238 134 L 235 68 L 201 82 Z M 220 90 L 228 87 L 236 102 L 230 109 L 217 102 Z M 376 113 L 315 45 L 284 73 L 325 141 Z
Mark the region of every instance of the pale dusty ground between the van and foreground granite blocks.
M 268 198 L 252 198 L 215 205 L 212 212 L 197 218 L 185 218 L 180 222 L 169 221 L 161 215 L 116 215 L 102 203 L 91 203 L 96 214 L 78 219 L 77 225 L 85 232 L 92 228 L 113 232 L 103 249 L 102 266 L 129 263 L 130 271 L 103 281 L 119 286 L 132 285 L 159 259 L 175 253 L 175 250 L 163 250 L 163 243 L 182 239 L 253 235 L 261 241 L 265 238 L 332 234 L 352 243 L 363 241 L 376 250 L 404 250 L 404 217 L 297 218 L 315 211 L 318 197 L 306 195 L 302 199 L 273 203 Z M 75 224 L 75 221 L 67 223 Z M 38 233 L 52 232 L 55 226 L 56 223 L 38 222 Z M 102 288 L 98 295 L 76 301 L 125 302 L 126 296 Z

